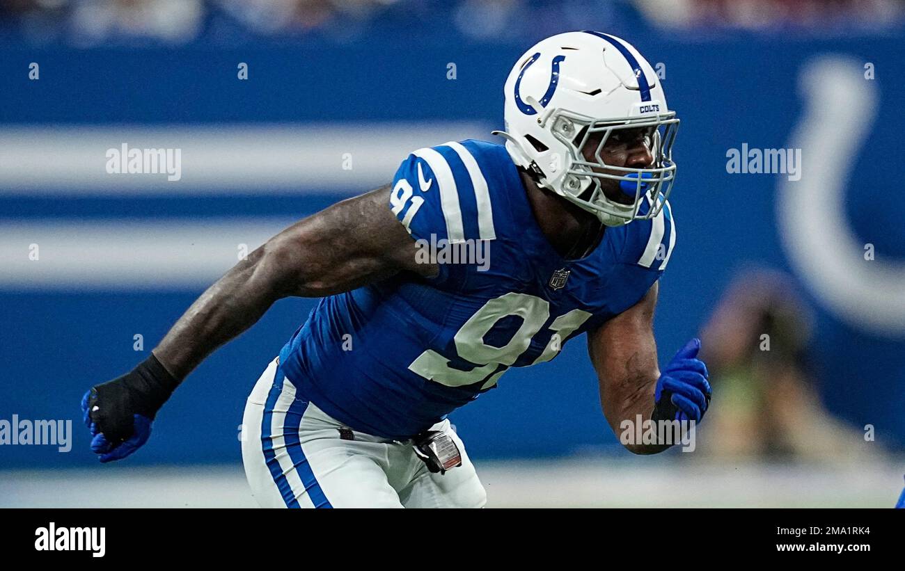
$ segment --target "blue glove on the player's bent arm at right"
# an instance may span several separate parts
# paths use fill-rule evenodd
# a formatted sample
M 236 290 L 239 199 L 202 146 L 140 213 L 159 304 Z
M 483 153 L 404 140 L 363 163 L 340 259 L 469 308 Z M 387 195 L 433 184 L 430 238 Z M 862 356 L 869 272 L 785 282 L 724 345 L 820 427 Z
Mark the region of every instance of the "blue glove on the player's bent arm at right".
M 656 420 L 700 422 L 710 406 L 710 374 L 698 359 L 700 340 L 692 339 L 676 353 L 657 380 L 653 395 Z

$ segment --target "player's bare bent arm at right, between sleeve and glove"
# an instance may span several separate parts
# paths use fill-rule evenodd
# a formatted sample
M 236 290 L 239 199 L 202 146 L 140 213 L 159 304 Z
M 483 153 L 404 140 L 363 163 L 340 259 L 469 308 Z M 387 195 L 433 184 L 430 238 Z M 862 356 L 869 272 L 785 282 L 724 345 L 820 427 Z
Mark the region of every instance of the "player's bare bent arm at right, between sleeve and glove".
M 619 435 L 620 423 L 637 415 L 648 420 L 660 378 L 653 339 L 653 310 L 658 283 L 641 301 L 587 334 L 587 351 L 600 383 L 600 405 L 606 421 Z M 626 445 L 634 454 L 656 454 L 665 445 Z

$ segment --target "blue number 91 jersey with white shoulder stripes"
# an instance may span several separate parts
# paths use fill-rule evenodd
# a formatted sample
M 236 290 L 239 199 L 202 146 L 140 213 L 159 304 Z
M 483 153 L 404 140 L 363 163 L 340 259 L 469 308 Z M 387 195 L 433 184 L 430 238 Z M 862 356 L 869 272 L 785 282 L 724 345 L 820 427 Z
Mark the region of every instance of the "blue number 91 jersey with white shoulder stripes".
M 331 417 L 397 440 L 636 304 L 676 239 L 667 203 L 653 220 L 607 228 L 588 256 L 565 259 L 505 147 L 476 140 L 409 154 L 387 207 L 425 252 L 445 245 L 462 255 L 438 258 L 433 278 L 400 273 L 321 299 L 280 360 L 300 395 Z

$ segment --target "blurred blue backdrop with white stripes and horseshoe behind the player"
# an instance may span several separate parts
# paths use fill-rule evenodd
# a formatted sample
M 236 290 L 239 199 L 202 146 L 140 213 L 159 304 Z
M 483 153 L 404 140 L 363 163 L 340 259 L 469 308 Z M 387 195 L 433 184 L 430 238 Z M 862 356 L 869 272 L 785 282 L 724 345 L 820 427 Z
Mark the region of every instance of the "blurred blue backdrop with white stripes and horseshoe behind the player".
M 688 12 L 671 15 L 675 5 Z M 814 314 L 809 362 L 825 407 L 859 429 L 872 424 L 887 448 L 905 447 L 898 3 L 859 15 L 826 3 L 825 18 L 783 13 L 767 23 L 718 2 L 0 6 L 0 417 L 75 425 L 70 454 L 4 446 L 2 466 L 96 463 L 80 429 L 81 395 L 144 359 L 234 263 L 239 244 L 253 248 L 292 220 L 388 182 L 417 146 L 494 140 L 514 61 L 542 37 L 576 29 L 620 35 L 662 64 L 681 117 L 679 236 L 655 322 L 661 362 L 700 332 L 740 271 L 786 272 Z M 32 62 L 38 80 L 29 79 Z M 248 80 L 237 79 L 240 62 Z M 807 78 L 819 85 L 807 88 Z M 865 108 L 834 91 L 848 85 Z M 802 130 L 828 145 L 804 147 L 802 181 L 727 172 L 729 149 L 811 140 Z M 104 150 L 122 143 L 183 148 L 182 180 L 105 173 Z M 842 192 L 839 220 L 795 203 L 805 184 L 824 196 L 814 194 L 824 180 L 815 171 L 827 162 Z M 800 228 L 782 223 L 789 209 L 800 209 Z M 815 226 L 805 223 L 814 217 Z M 843 274 L 864 275 L 842 295 L 832 273 L 795 249 L 836 248 L 840 234 L 858 245 L 834 252 Z M 862 257 L 868 243 L 873 260 Z M 28 259 L 31 244 L 39 260 Z M 313 303 L 279 302 L 205 361 L 129 463 L 239 462 L 244 400 Z M 584 339 L 548 364 L 511 370 L 451 417 L 475 458 L 619 449 Z

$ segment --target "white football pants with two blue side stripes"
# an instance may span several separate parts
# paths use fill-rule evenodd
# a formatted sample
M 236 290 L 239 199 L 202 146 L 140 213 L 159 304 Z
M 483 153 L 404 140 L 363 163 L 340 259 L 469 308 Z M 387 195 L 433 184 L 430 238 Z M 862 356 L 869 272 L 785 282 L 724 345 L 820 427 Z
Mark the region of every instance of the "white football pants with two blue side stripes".
M 340 429 L 352 439 L 340 438 Z M 410 443 L 349 430 L 296 398 L 275 359 L 245 405 L 245 475 L 265 508 L 483 507 L 487 494 L 449 420 L 431 429 L 452 436 L 461 466 L 431 473 Z

